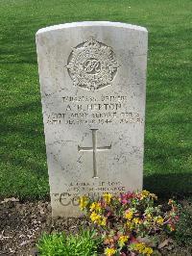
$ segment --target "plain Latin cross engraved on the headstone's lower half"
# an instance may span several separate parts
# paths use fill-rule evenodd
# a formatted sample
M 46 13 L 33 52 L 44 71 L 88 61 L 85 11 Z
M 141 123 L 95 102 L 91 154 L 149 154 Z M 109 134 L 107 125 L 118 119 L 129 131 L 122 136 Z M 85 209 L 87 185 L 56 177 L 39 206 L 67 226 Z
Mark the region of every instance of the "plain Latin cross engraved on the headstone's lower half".
M 111 149 L 111 144 L 109 146 L 97 146 L 97 131 L 98 129 L 90 129 L 92 131 L 92 147 L 88 146 L 79 146 L 78 151 L 90 151 L 93 152 L 93 178 L 98 178 L 98 170 L 97 170 L 97 152 L 98 151 L 106 151 Z

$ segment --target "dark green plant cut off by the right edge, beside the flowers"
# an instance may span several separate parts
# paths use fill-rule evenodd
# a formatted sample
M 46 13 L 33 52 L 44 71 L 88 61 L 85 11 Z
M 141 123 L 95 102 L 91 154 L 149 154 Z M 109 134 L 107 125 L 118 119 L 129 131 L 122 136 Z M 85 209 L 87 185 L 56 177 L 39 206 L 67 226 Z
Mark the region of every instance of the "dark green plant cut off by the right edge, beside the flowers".
M 181 208 L 175 238 L 180 245 L 192 247 L 192 200 L 190 204 Z

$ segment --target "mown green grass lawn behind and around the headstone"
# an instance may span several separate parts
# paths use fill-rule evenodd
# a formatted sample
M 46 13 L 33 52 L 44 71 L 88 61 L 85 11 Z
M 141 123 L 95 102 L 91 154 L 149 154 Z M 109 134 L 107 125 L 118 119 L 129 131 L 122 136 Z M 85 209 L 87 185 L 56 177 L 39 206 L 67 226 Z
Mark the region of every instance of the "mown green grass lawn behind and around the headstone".
M 191 0 L 1 0 L 0 20 L 0 196 L 49 193 L 35 34 L 83 20 L 148 29 L 144 187 L 192 192 Z

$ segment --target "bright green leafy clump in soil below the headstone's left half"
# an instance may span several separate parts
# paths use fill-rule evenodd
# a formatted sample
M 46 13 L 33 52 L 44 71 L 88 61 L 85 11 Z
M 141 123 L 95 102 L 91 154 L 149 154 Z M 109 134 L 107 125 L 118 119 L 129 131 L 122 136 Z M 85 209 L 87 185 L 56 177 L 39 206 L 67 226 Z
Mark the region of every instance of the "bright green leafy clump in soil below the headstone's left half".
M 93 230 L 78 235 L 44 234 L 37 243 L 40 256 L 96 256 L 100 240 Z

